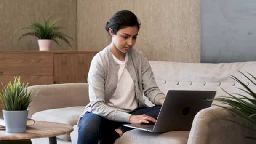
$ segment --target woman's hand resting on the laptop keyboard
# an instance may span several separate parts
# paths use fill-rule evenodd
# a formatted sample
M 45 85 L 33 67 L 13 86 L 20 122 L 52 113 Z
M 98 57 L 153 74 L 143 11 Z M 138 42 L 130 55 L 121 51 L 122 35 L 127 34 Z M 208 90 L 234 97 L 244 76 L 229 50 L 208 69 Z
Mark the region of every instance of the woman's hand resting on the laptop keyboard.
M 131 124 L 141 124 L 149 122 L 155 123 L 156 119 L 148 115 L 131 115 L 131 117 L 129 118 L 129 123 Z

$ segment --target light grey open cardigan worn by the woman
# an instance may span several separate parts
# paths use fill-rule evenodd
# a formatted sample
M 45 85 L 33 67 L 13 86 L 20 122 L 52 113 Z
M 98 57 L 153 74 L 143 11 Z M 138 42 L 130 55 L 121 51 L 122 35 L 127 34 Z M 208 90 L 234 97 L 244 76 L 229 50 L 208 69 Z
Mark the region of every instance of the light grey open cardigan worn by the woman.
M 159 90 L 144 53 L 132 48 L 128 52 L 126 65 L 126 69 L 135 84 L 135 95 L 139 103 L 138 106 L 147 107 L 143 99 L 143 93 L 153 104 L 157 105 L 158 100 L 165 97 L 165 95 Z M 108 120 L 129 123 L 131 114 L 107 105 L 107 101 L 111 99 L 117 86 L 119 67 L 120 65 L 112 57 L 110 46 L 107 46 L 93 57 L 88 73 L 90 103 L 80 115 L 78 125 L 80 124 L 81 118 L 88 112 L 93 112 Z

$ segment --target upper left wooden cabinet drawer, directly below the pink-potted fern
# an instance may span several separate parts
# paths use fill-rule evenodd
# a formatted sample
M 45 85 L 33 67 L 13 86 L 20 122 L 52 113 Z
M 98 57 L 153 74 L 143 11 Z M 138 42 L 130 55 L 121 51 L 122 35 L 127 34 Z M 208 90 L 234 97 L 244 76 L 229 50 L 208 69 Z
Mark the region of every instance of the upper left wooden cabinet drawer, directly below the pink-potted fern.
M 0 53 L 0 75 L 53 75 L 53 53 Z

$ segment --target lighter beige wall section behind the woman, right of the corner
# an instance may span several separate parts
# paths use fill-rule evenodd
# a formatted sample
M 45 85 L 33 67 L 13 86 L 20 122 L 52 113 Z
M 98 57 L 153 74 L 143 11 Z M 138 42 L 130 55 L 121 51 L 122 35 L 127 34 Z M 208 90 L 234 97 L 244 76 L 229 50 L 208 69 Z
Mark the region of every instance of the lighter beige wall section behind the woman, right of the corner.
M 200 0 L 78 0 L 78 49 L 107 46 L 104 26 L 122 9 L 141 20 L 135 48 L 149 60 L 200 62 Z

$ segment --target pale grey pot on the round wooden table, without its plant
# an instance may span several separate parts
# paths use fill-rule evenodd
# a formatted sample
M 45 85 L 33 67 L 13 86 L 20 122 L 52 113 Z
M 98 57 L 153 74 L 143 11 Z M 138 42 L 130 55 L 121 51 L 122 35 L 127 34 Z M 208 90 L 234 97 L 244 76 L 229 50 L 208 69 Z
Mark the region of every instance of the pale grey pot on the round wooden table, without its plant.
M 3 111 L 5 129 L 7 133 L 24 133 L 26 131 L 29 110 Z

